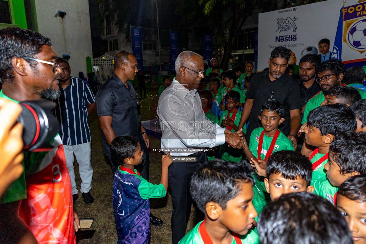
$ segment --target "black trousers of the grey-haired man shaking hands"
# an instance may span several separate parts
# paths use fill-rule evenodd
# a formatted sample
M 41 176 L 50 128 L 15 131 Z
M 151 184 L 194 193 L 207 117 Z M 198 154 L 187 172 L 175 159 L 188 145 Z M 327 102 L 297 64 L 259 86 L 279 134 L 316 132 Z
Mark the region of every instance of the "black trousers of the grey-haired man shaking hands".
M 186 234 L 190 215 L 192 197 L 189 191 L 192 174 L 200 164 L 208 161 L 206 153 L 192 154 L 197 162 L 174 161 L 168 170 L 168 184 L 172 189 L 172 241 L 178 243 Z M 174 157 L 174 156 L 172 156 Z M 196 222 L 202 221 L 205 215 L 196 210 Z

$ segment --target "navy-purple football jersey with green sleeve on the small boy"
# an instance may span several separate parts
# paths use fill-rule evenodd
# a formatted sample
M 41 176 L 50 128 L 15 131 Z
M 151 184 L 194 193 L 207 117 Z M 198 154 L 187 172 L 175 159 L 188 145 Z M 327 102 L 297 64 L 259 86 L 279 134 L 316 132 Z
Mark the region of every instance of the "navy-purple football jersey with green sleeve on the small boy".
M 122 170 L 121 170 L 122 169 Z M 166 195 L 162 184 L 154 185 L 139 172 L 120 166 L 113 181 L 113 209 L 117 244 L 147 244 L 150 239 L 150 200 Z

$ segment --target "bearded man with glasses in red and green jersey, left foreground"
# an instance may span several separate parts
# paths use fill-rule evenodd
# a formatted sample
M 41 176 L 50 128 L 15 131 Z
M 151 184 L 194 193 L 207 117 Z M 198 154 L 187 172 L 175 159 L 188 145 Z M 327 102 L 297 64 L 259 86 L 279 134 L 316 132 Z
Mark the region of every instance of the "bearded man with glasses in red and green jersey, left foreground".
M 56 58 L 49 38 L 15 27 L 0 30 L 0 98 L 57 99 Z M 0 199 L 0 243 L 76 243 L 74 218 L 79 219 L 58 134 L 52 145 L 46 152 L 23 152 L 24 173 Z

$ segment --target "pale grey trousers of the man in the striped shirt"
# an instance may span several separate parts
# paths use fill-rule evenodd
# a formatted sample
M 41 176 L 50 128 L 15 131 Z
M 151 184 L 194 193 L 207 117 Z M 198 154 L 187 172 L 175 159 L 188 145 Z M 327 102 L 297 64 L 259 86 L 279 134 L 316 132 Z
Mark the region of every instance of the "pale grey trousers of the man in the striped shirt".
M 66 165 L 71 180 L 72 195 L 78 194 L 78 189 L 76 189 L 75 183 L 74 154 L 76 161 L 79 164 L 79 174 L 82 181 L 80 191 L 82 193 L 89 192 L 91 189 L 91 180 L 93 179 L 93 169 L 91 168 L 90 162 L 90 142 L 74 146 L 63 146 L 65 151 Z

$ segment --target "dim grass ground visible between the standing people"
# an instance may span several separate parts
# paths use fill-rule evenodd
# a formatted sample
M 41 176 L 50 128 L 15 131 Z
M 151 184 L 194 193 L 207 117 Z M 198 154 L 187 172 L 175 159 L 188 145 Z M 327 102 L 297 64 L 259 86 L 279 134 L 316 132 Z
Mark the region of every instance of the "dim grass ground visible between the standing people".
M 156 116 L 157 107 L 157 85 L 147 88 L 146 98 L 141 100 L 142 120 L 150 120 Z M 139 91 L 138 91 L 139 94 Z M 94 196 L 94 203 L 86 205 L 79 192 L 79 199 L 76 200 L 74 209 L 79 218 L 94 218 L 90 229 L 82 229 L 76 233 L 79 244 L 91 243 L 117 243 L 117 232 L 115 227 L 113 205 L 112 205 L 112 186 L 113 176 L 111 165 L 105 160 L 99 121 L 97 113 L 89 116 L 89 127 L 91 131 L 91 165 L 93 167 L 93 183 L 90 193 Z M 160 147 L 160 140 L 150 138 L 150 147 Z M 74 163 L 75 180 L 80 190 L 81 179 L 79 177 L 78 164 Z M 161 177 L 161 153 L 150 152 L 150 182 L 160 183 Z M 150 199 L 151 213 L 163 219 L 162 226 L 151 226 L 150 244 L 169 244 L 171 239 L 171 212 L 172 196 L 168 189 L 165 198 Z M 191 216 L 188 221 L 187 232 L 194 227 L 194 211 L 192 207 Z

